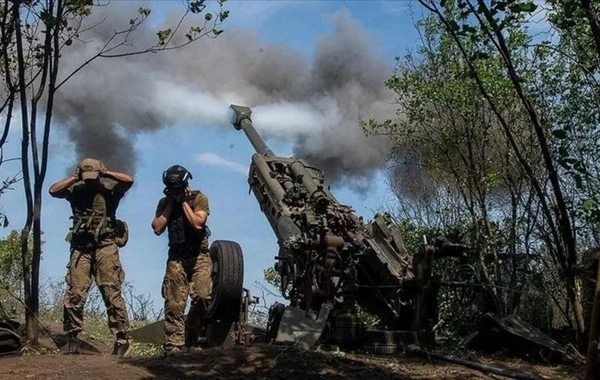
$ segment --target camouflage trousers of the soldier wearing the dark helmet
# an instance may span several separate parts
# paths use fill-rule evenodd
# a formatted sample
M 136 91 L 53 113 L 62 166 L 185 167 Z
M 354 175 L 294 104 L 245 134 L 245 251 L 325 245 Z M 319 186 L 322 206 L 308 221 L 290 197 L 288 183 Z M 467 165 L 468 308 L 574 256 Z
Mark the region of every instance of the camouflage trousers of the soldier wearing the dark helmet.
M 198 332 L 203 325 L 212 290 L 212 260 L 207 253 L 185 255 L 169 252 L 162 285 L 165 299 L 165 348 L 186 345 L 186 331 Z M 188 296 L 190 311 L 184 317 Z

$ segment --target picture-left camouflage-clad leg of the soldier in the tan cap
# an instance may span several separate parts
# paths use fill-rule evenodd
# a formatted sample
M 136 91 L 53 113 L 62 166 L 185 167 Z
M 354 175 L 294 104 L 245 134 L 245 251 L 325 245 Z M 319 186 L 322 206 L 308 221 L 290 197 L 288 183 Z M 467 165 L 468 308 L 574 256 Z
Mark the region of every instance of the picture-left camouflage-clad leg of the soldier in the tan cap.
M 92 285 L 90 252 L 71 249 L 65 282 L 63 328 L 69 335 L 76 336 L 83 328 L 83 307 Z

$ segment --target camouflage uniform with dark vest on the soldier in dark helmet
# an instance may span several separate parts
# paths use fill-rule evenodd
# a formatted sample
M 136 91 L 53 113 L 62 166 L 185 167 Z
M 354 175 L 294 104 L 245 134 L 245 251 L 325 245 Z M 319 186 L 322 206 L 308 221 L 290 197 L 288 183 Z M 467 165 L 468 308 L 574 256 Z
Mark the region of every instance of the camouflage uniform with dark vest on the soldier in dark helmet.
M 200 192 L 193 192 L 188 201 L 194 212 L 210 214 L 208 198 Z M 167 198 L 162 198 L 156 209 L 156 216 L 162 214 Z M 168 224 L 169 258 L 162 285 L 165 300 L 165 348 L 183 347 L 186 343 L 186 330 L 198 331 L 206 310 L 206 302 L 212 289 L 212 261 L 208 255 L 208 237 L 203 229 L 193 230 L 187 221 L 181 204 L 173 204 Z M 190 312 L 184 322 L 188 295 L 192 302 Z M 186 328 L 187 327 L 187 328 Z

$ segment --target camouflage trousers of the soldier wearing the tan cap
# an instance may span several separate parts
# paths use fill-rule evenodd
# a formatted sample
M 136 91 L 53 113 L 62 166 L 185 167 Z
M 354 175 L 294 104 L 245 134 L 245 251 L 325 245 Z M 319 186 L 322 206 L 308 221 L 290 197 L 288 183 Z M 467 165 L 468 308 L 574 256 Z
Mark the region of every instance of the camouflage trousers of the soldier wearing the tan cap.
M 63 308 L 65 332 L 76 334 L 82 330 L 83 308 L 94 278 L 106 306 L 108 327 L 117 338 L 124 339 L 129 330 L 129 318 L 121 295 L 125 272 L 116 244 L 101 248 L 71 248 L 67 268 Z

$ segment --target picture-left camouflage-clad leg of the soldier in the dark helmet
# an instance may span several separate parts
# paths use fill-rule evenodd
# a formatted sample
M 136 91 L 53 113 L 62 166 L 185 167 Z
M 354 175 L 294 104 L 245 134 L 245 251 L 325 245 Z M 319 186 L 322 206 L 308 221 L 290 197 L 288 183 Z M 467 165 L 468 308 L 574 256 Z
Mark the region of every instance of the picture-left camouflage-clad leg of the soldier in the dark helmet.
M 181 348 L 185 344 L 184 313 L 188 296 L 188 281 L 182 260 L 169 258 L 162 285 L 165 300 L 165 349 Z

